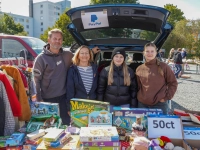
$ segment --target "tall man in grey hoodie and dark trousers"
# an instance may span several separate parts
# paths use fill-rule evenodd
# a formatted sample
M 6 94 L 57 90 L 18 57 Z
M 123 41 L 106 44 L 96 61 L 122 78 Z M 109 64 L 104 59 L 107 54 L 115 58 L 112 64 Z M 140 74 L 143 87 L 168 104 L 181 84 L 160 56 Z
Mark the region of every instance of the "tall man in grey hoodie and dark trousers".
M 63 33 L 59 29 L 48 32 L 48 43 L 36 57 L 33 76 L 37 91 L 37 101 L 58 103 L 60 117 L 64 125 L 70 124 L 70 112 L 66 101 L 66 77 L 72 64 L 73 54 L 62 48 Z M 94 54 L 98 47 L 92 49 Z

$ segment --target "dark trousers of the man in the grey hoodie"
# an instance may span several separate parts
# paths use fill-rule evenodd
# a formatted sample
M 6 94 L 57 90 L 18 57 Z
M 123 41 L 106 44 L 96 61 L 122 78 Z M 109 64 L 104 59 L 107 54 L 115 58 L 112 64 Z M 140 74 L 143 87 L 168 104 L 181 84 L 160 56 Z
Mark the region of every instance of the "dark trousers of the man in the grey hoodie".
M 66 95 L 49 98 L 49 99 L 43 99 L 44 102 L 50 102 L 50 103 L 58 103 L 59 109 L 60 109 L 60 117 L 62 119 L 62 124 L 69 125 L 70 124 L 70 116 L 67 111 L 67 103 L 66 103 Z

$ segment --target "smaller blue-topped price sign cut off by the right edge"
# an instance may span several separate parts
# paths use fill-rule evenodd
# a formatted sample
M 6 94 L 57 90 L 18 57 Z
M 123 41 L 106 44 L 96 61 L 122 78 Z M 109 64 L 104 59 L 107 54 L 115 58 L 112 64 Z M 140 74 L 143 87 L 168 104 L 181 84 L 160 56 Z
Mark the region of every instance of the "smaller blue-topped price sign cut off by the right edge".
M 200 139 L 200 128 L 184 127 L 184 139 Z

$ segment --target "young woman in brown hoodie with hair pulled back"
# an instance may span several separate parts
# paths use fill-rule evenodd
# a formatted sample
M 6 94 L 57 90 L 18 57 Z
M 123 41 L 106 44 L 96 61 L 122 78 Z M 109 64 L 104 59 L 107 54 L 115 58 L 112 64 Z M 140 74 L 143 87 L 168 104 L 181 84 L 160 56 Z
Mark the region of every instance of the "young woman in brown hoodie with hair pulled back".
M 177 90 L 177 80 L 171 68 L 157 58 L 156 46 L 147 43 L 144 46 L 145 63 L 136 69 L 138 83 L 138 107 L 159 108 L 168 113 L 168 100 Z

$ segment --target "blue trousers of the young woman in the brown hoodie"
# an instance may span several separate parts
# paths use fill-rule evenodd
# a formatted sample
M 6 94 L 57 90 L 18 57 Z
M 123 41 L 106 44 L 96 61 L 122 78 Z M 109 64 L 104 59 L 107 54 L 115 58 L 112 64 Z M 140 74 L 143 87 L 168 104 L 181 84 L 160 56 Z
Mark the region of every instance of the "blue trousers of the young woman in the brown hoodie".
M 153 106 L 149 106 L 149 105 L 143 104 L 141 102 L 138 102 L 138 108 L 162 109 L 164 115 L 167 115 L 169 112 L 169 105 L 168 105 L 167 101 L 165 101 L 163 103 L 158 102 L 156 105 L 153 105 Z

